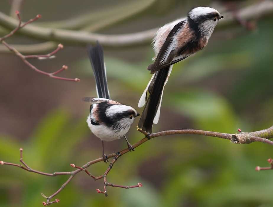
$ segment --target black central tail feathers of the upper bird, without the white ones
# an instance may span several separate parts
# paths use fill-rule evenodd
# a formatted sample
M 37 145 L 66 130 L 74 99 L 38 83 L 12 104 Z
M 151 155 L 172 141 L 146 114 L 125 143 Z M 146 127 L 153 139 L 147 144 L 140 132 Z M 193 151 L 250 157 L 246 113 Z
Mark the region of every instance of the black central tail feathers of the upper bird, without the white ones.
M 160 104 L 162 91 L 165 80 L 168 78 L 169 69 L 170 66 L 164 67 L 155 74 L 152 88 L 149 91 L 150 96 L 146 101 L 145 107 L 138 122 L 138 127 L 145 132 L 152 132 L 153 120 Z

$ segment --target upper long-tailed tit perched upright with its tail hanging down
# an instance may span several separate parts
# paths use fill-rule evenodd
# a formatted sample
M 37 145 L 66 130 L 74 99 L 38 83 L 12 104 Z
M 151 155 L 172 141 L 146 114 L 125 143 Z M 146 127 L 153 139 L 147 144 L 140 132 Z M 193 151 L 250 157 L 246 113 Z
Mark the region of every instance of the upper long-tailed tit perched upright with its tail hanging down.
M 163 90 L 173 64 L 203 49 L 221 18 L 223 16 L 215 9 L 197 7 L 188 13 L 188 17 L 170 22 L 157 31 L 153 40 L 155 62 L 147 68 L 153 75 L 138 104 L 138 107 L 144 106 L 149 91 L 139 128 L 152 132 L 152 124 L 159 120 Z

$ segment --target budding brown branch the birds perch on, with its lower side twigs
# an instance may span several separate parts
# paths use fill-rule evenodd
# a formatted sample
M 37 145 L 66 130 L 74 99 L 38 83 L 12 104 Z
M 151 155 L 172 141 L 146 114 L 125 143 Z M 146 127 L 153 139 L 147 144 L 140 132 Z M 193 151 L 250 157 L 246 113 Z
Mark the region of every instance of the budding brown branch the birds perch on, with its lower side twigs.
M 217 137 L 217 138 L 222 138 L 222 139 L 228 139 L 231 141 L 231 143 L 240 143 L 240 144 L 249 144 L 255 141 L 260 141 L 263 143 L 268 143 L 270 145 L 273 145 L 273 142 L 268 140 L 270 138 L 273 137 L 273 126 L 269 127 L 268 129 L 265 130 L 260 130 L 260 131 L 256 131 L 256 132 L 242 132 L 240 129 L 238 129 L 238 131 L 240 132 L 239 134 L 227 134 L 227 133 L 219 133 L 219 132 L 210 132 L 210 131 L 204 131 L 204 130 L 170 130 L 170 131 L 163 131 L 163 132 L 156 132 L 153 134 L 149 134 L 147 132 L 142 131 L 141 129 L 137 128 L 137 130 L 139 130 L 141 133 L 143 133 L 145 135 L 145 137 L 138 141 L 137 143 L 135 143 L 133 146 L 133 148 L 137 148 L 139 145 L 143 144 L 144 142 L 152 139 L 152 138 L 156 138 L 156 137 L 160 137 L 160 136 L 167 136 L 167 135 L 175 135 L 175 134 L 196 134 L 196 135 L 204 135 L 204 136 L 210 136 L 210 137 Z M 267 140 L 267 141 L 266 141 Z M 105 171 L 105 173 L 99 177 L 95 177 L 93 176 L 91 173 L 89 173 L 86 168 L 91 166 L 92 164 L 98 163 L 103 161 L 103 158 L 99 158 L 99 159 L 95 159 L 92 160 L 90 162 L 88 162 L 87 164 L 83 165 L 82 167 L 78 167 L 75 166 L 74 164 L 71 164 L 72 167 L 77 168 L 77 170 L 72 171 L 72 172 L 54 172 L 54 173 L 44 173 L 44 172 L 39 172 L 37 170 L 33 170 L 31 169 L 29 166 L 27 166 L 27 164 L 25 164 L 25 162 L 23 161 L 23 157 L 22 157 L 22 148 L 20 148 L 20 162 L 24 165 L 20 165 L 20 164 L 13 164 L 13 163 L 7 163 L 4 161 L 0 161 L 1 165 L 12 165 L 12 166 L 17 166 L 20 167 L 24 170 L 27 170 L 29 172 L 34 172 L 37 174 L 41 174 L 41 175 L 45 175 L 45 176 L 57 176 L 57 175 L 70 175 L 69 179 L 60 187 L 59 190 L 57 190 L 55 193 L 53 193 L 51 196 L 46 197 L 45 195 L 43 195 L 43 197 L 45 197 L 47 199 L 46 202 L 43 202 L 43 205 L 50 205 L 51 203 L 58 203 L 59 200 L 56 199 L 55 201 L 50 202 L 50 200 L 56 196 L 58 193 L 61 192 L 61 190 L 64 189 L 64 187 L 73 179 L 73 177 L 83 171 L 86 172 L 90 177 L 92 177 L 94 180 L 98 180 L 98 179 L 103 179 L 104 182 L 104 191 L 101 191 L 99 189 L 97 189 L 98 193 L 103 193 L 105 194 L 105 196 L 107 196 L 107 191 L 106 191 L 106 187 L 107 186 L 112 186 L 112 187 L 121 187 L 121 188 L 125 188 L 125 189 L 129 189 L 129 188 L 134 188 L 134 187 L 141 187 L 141 183 L 138 183 L 137 185 L 134 186 L 121 186 L 121 185 L 114 185 L 114 184 L 110 184 L 107 182 L 106 177 L 107 174 L 110 172 L 110 170 L 112 169 L 114 163 L 117 161 L 117 159 L 129 152 L 129 149 L 126 148 L 120 152 L 117 153 L 113 153 L 113 154 L 109 154 L 107 155 L 107 158 L 112 158 L 114 157 L 114 159 L 112 160 L 112 162 L 109 164 L 107 170 Z M 272 165 L 271 167 L 267 167 L 267 168 L 261 168 L 259 166 L 256 167 L 256 170 L 264 170 L 264 169 L 273 169 L 273 160 L 272 159 L 268 159 L 269 163 Z

